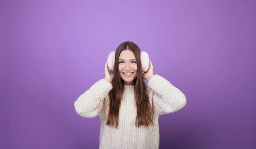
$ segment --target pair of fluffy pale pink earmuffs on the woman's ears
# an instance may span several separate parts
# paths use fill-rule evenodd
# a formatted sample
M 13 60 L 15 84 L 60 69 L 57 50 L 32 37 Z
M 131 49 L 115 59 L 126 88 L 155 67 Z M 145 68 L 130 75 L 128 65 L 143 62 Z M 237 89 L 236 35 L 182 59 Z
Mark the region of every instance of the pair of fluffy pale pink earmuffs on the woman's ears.
M 140 60 L 141 60 L 141 66 L 142 71 L 145 73 L 148 71 L 149 67 L 149 56 L 148 53 L 145 51 L 141 51 L 140 53 Z M 115 52 L 111 52 L 108 55 L 108 68 L 113 71 L 114 70 L 114 64 L 115 64 Z

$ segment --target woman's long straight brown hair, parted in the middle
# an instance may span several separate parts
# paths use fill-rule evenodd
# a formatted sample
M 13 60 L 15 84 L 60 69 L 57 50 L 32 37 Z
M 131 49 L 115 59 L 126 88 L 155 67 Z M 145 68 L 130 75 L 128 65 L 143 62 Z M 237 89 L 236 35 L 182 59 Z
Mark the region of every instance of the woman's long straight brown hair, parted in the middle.
M 108 112 L 108 120 L 106 122 L 109 126 L 116 125 L 118 127 L 119 123 L 119 108 L 122 100 L 123 95 L 123 80 L 119 74 L 119 56 L 123 50 L 131 50 L 136 58 L 137 61 L 137 77 L 135 78 L 134 82 L 134 98 L 135 104 L 137 107 L 137 117 L 136 117 L 136 127 L 145 126 L 153 124 L 154 118 L 154 107 L 153 103 L 150 104 L 148 100 L 148 94 L 146 90 L 146 84 L 143 81 L 142 77 L 142 66 L 140 60 L 140 48 L 134 42 L 123 42 L 117 48 L 115 52 L 115 64 L 113 70 L 113 81 L 112 81 L 112 90 L 109 92 L 109 112 Z M 154 125 L 154 124 L 153 124 Z

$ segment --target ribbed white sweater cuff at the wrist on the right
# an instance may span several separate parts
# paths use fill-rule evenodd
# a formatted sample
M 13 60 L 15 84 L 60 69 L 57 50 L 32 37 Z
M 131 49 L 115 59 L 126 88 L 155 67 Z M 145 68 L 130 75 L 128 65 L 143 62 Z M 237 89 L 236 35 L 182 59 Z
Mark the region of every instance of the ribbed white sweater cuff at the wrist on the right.
M 164 79 L 162 76 L 154 75 L 148 81 L 148 87 L 150 87 L 155 93 L 161 96 L 162 91 L 171 84 L 168 80 Z

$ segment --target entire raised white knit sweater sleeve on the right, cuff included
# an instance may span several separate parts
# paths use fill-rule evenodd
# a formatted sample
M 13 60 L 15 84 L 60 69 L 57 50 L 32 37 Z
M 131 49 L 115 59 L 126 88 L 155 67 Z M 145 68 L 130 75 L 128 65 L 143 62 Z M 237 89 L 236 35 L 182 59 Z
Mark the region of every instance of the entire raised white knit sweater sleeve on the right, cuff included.
M 176 112 L 186 105 L 185 95 L 159 75 L 148 81 L 148 87 L 154 92 L 154 107 L 159 115 Z

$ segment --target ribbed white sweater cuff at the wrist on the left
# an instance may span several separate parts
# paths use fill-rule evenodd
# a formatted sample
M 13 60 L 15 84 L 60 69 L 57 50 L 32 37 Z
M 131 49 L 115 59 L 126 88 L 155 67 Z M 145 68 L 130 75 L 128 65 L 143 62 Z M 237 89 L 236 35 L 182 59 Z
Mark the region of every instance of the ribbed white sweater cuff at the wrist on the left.
M 98 82 L 90 87 L 90 90 L 92 90 L 93 93 L 99 96 L 101 100 L 108 95 L 108 92 L 110 92 L 111 89 L 112 84 L 104 79 L 100 79 Z

